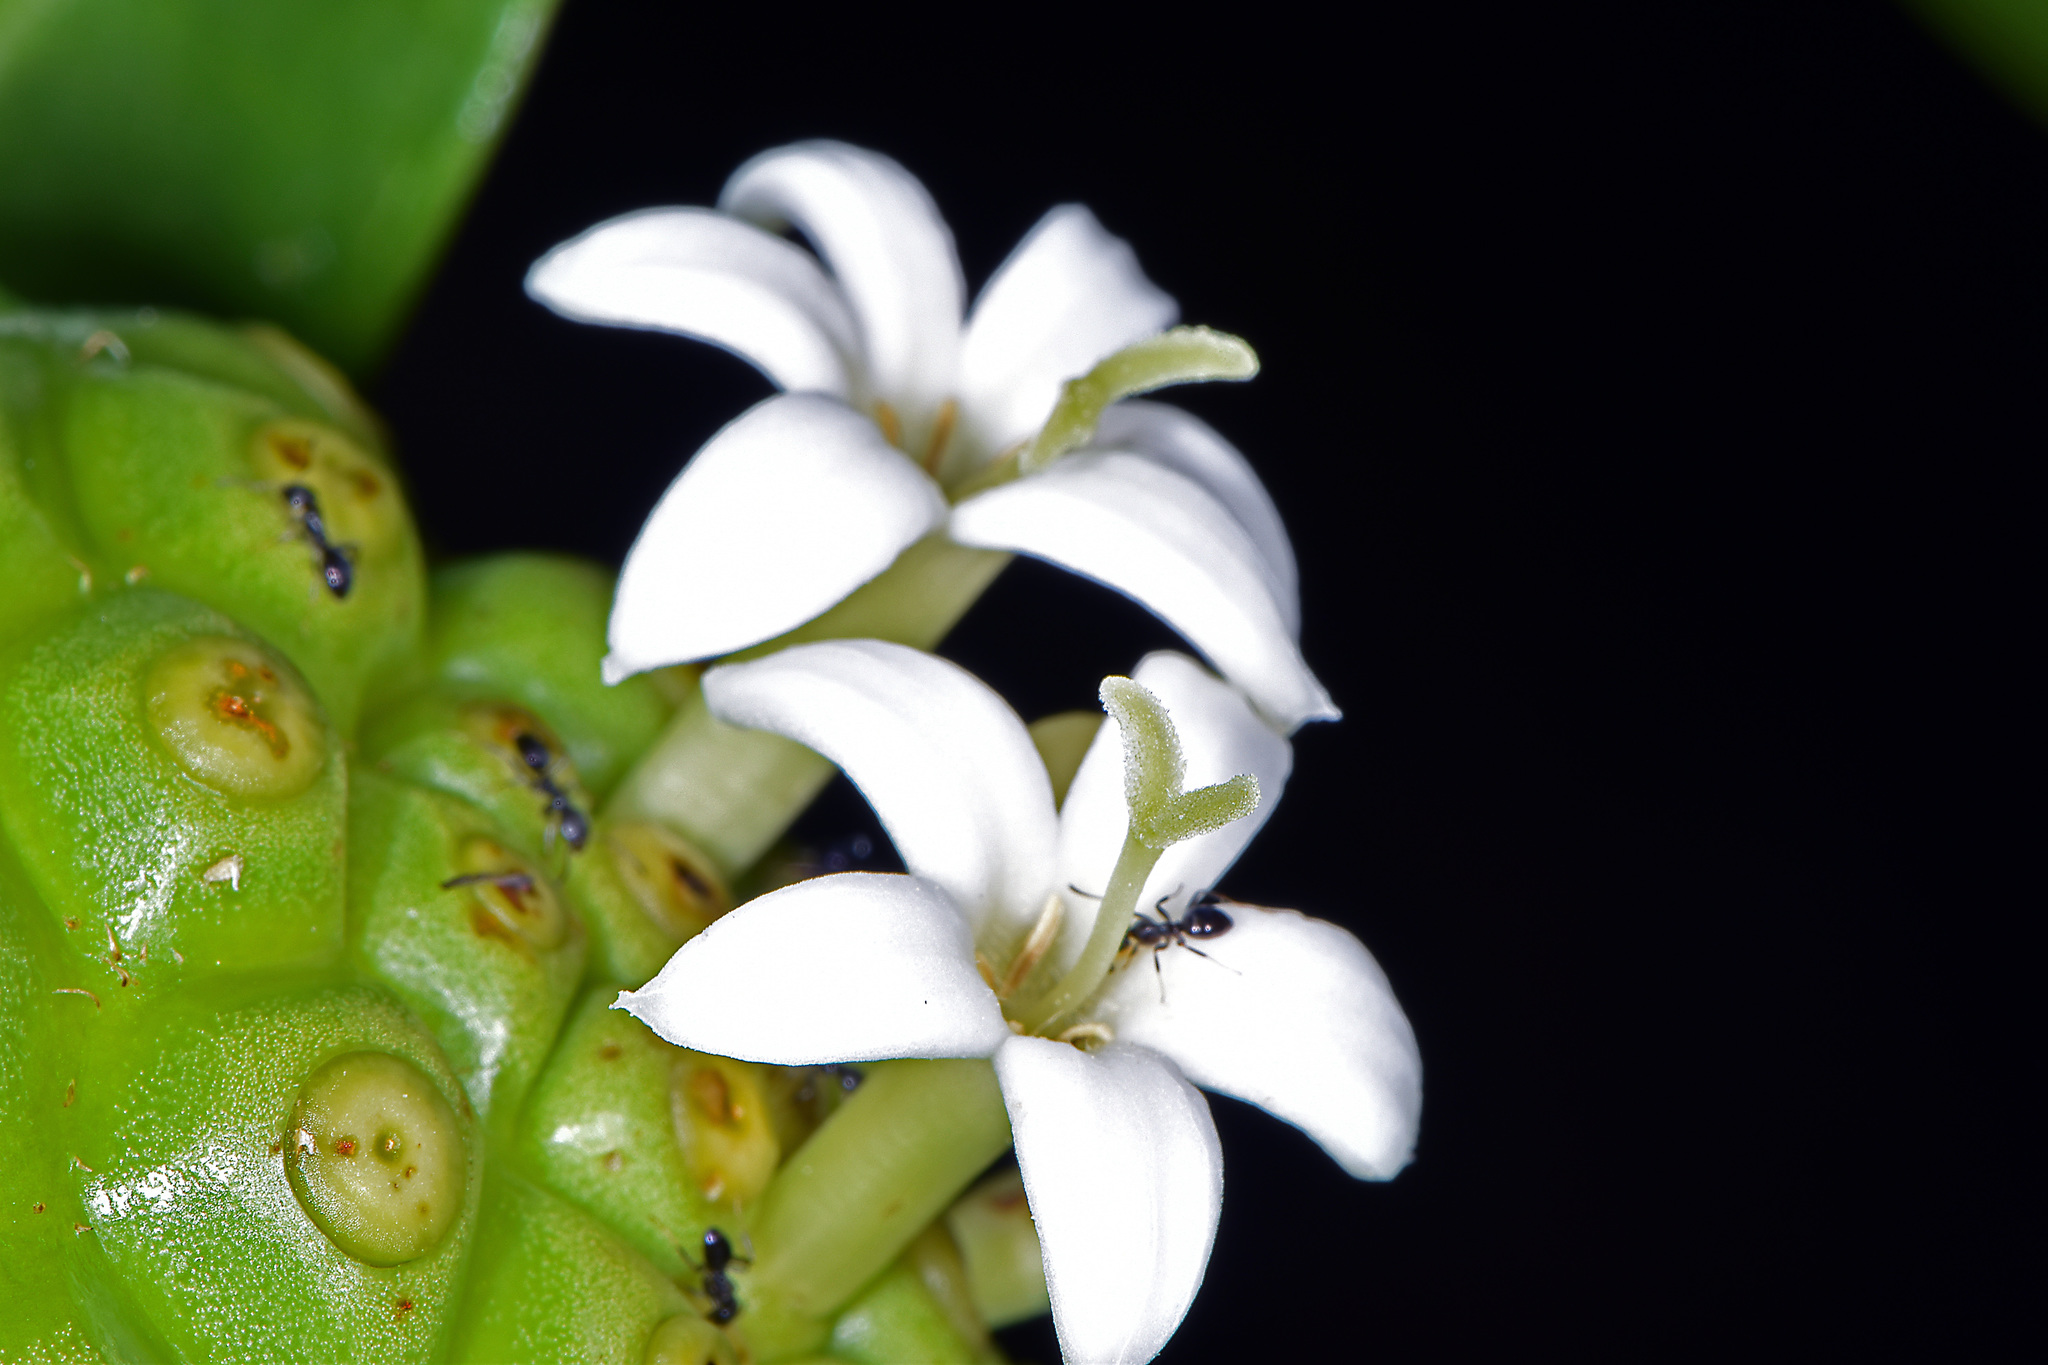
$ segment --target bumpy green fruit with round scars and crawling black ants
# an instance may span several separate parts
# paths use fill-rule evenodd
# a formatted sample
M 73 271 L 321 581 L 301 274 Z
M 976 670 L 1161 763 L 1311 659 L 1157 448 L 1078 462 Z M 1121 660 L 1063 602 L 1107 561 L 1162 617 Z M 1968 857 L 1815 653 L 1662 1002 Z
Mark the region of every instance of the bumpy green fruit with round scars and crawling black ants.
M 944 1222 L 750 1295 L 858 1078 L 608 1009 L 731 894 L 602 806 L 694 688 L 606 571 L 430 577 L 274 329 L 0 301 L 0 1363 L 999 1359 Z

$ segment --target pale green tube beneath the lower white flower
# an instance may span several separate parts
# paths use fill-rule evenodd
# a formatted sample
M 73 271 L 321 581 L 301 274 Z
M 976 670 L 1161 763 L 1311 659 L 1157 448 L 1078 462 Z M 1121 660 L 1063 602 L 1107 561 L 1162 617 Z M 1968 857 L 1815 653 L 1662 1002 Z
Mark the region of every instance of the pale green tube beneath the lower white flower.
M 1008 1146 L 1010 1115 L 989 1062 L 868 1066 L 762 1195 L 750 1312 L 834 1312 Z

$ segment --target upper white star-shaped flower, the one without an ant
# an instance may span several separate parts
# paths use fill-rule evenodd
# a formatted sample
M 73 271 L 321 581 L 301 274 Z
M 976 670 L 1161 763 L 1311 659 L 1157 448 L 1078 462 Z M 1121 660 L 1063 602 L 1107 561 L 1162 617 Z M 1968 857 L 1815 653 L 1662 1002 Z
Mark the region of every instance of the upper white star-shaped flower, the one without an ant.
M 1001 477 L 1063 381 L 1178 313 L 1081 205 L 1026 233 L 963 325 L 952 233 L 926 188 L 874 151 L 797 143 L 741 166 L 715 211 L 647 209 L 557 246 L 526 289 L 567 317 L 725 346 L 786 391 L 698 450 L 647 518 L 606 677 L 778 636 L 944 532 L 1128 593 L 1284 731 L 1337 716 L 1300 659 L 1280 518 L 1208 426 L 1124 403 L 1065 458 Z

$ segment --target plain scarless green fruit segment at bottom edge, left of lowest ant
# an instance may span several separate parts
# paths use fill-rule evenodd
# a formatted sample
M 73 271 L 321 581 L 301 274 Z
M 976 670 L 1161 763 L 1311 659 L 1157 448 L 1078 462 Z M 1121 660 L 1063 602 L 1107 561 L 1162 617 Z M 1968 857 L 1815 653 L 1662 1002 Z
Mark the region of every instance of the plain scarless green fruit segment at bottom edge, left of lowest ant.
M 500 1173 L 451 1359 L 635 1365 L 664 1320 L 690 1312 L 682 1289 L 600 1222 Z

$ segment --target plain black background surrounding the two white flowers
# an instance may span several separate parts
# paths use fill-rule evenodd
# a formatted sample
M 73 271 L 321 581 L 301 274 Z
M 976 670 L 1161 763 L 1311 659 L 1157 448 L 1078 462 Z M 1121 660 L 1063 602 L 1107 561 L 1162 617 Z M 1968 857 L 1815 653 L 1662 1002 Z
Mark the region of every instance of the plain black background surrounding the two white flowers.
M 1929 1232 L 1991 1160 L 1937 982 L 2005 837 L 1966 769 L 2030 630 L 1985 608 L 2040 448 L 2040 131 L 1882 4 L 569 0 L 373 385 L 436 548 L 618 561 L 768 387 L 520 276 L 819 135 L 922 176 L 971 287 L 1085 201 L 1266 360 L 1174 401 L 1272 487 L 1346 720 L 1225 888 L 1372 945 L 1427 1105 L 1356 1185 L 1217 1101 L 1163 1359 L 1954 1349 L 1956 1283 L 2001 1293 Z M 1032 716 L 1169 641 L 1020 563 L 946 653 Z

